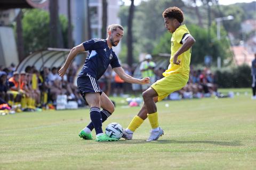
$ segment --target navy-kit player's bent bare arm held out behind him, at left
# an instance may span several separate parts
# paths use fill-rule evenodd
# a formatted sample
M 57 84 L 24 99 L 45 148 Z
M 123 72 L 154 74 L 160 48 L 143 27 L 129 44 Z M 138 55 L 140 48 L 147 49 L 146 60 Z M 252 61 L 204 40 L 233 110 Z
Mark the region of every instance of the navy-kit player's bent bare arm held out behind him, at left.
M 83 46 L 83 43 L 82 44 L 79 44 L 78 46 L 76 47 L 73 47 L 69 54 L 68 54 L 68 57 L 67 57 L 67 60 L 65 62 L 65 64 L 60 68 L 59 70 L 59 75 L 60 77 L 63 77 L 71 63 L 71 61 L 73 61 L 73 59 L 75 58 L 75 56 L 78 54 L 78 53 L 81 53 L 81 52 L 84 52 L 85 49 L 84 49 L 84 46 Z

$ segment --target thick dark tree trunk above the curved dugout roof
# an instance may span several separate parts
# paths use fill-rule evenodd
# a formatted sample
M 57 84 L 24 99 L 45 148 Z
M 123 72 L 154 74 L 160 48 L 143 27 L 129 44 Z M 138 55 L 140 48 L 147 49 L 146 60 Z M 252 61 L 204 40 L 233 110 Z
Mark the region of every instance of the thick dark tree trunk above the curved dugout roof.
M 58 0 L 50 0 L 50 46 L 63 48 L 63 37 L 59 23 Z

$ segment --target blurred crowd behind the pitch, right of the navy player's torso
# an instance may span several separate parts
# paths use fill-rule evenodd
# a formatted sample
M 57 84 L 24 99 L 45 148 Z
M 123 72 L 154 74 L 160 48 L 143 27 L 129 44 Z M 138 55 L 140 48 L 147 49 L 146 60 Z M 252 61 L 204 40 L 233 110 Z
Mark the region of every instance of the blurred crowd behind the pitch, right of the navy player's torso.
M 139 65 L 134 67 L 129 67 L 127 64 L 122 64 L 124 71 L 129 75 L 135 75 L 136 71 L 139 72 L 140 77 L 137 78 L 150 78 L 149 84 L 143 84 L 141 90 L 145 91 L 151 86 L 155 81 L 163 78 L 163 72 L 165 68 L 157 67 L 153 62 L 151 55 L 146 55 L 145 60 L 143 60 Z M 135 67 L 139 67 L 136 70 Z M 109 66 L 106 73 L 99 80 L 101 89 L 109 96 L 123 96 L 124 93 L 131 94 L 134 89 L 131 88 L 131 84 L 124 82 L 122 79 L 111 71 Z M 141 92 L 141 90 L 139 92 Z M 177 91 L 178 96 L 181 98 L 202 98 L 217 96 L 218 86 L 215 83 L 214 74 L 207 67 L 204 69 L 194 69 L 193 66 L 190 68 L 189 81 L 185 87 Z

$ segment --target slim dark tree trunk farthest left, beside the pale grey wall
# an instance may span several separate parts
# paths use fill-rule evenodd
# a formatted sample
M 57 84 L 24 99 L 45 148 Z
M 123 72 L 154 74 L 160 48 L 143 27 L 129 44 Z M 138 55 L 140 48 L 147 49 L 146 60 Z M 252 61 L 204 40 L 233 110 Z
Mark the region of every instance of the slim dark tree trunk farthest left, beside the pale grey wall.
M 21 62 L 25 56 L 24 56 L 24 40 L 23 40 L 23 34 L 22 34 L 22 10 L 20 10 L 19 14 L 17 15 L 16 22 L 17 22 L 17 45 L 18 45 L 18 55 L 19 55 L 19 62 Z

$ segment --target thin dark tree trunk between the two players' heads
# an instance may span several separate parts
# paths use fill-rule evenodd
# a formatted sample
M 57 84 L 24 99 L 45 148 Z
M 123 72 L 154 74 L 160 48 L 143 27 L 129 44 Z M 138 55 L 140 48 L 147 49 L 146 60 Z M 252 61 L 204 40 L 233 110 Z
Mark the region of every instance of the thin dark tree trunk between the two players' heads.
M 133 64 L 133 55 L 132 55 L 132 20 L 134 13 L 134 0 L 131 0 L 131 6 L 129 8 L 128 16 L 128 30 L 127 30 L 127 64 L 132 66 Z

